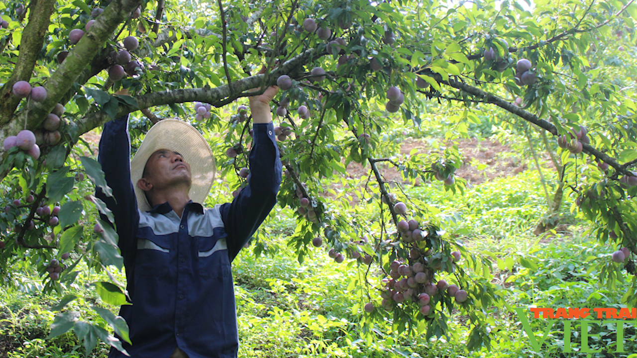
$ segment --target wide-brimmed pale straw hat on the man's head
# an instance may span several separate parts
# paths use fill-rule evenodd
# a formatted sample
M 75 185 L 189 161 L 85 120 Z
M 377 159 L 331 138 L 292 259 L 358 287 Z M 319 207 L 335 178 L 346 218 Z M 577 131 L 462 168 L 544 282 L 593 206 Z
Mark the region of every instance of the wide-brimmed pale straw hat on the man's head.
M 152 209 L 137 182 L 144 173 L 148 158 L 160 149 L 177 152 L 190 164 L 192 185 L 189 196 L 195 203 L 203 203 L 215 180 L 215 157 L 210 145 L 192 125 L 182 120 L 164 119 L 150 128 L 131 161 L 131 182 L 138 208 L 141 211 Z

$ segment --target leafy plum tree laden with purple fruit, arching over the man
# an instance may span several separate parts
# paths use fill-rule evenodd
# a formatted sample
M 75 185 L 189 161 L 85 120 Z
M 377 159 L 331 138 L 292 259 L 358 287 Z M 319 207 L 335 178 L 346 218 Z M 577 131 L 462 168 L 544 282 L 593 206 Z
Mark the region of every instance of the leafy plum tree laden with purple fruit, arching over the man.
M 166 8 L 172 6 L 186 15 L 199 11 L 191 3 L 167 1 Z M 612 243 L 615 247 L 635 245 L 631 228 L 637 227 L 637 218 L 629 198 L 637 195 L 633 186 L 636 179 L 631 175 L 635 166 L 631 138 L 637 133 L 630 115 L 626 115 L 634 112 L 630 99 L 635 90 L 624 73 L 610 68 L 615 59 L 607 61 L 617 47 L 628 48 L 629 43 L 623 38 L 618 40 L 614 30 L 625 31 L 624 27 L 631 26 L 634 5 L 623 8 L 619 3 L 594 3 L 573 10 L 534 4 L 534 8 L 524 11 L 515 6 L 498 9 L 486 6 L 476 18 L 472 13 L 475 10 L 469 7 L 456 8 L 445 3 L 419 6 L 406 1 L 379 6 L 354 2 L 334 6 L 324 1 L 308 4 L 285 0 L 276 8 L 268 8 L 268 16 L 261 17 L 259 13 L 252 14 L 255 9 L 247 3 L 231 0 L 222 3 L 220 8 L 210 8 L 206 21 L 175 13 L 162 15 L 159 8 L 153 9 L 150 3 L 143 6 L 151 13 L 157 10 L 156 18 L 131 21 L 141 16 L 141 4 L 141 1 L 129 0 L 104 1 L 99 5 L 103 8 L 91 11 L 85 6 L 78 8 L 72 1 L 61 0 L 49 6 L 47 12 L 36 2 L 29 5 L 32 15 L 28 18 L 23 16 L 24 6 L 14 6 L 15 11 L 11 8 L 13 5 L 0 10 L 3 15 L 0 25 L 10 27 L 13 34 L 3 40 L 4 50 L 0 52 L 3 63 L 7 64 L 0 74 L 0 83 L 3 83 L 0 95 L 4 99 L 0 103 L 0 138 L 4 143 L 0 173 L 6 184 L 3 197 L 8 198 L 3 206 L 9 206 L 9 215 L 0 218 L 0 227 L 30 226 L 27 220 L 30 208 L 11 205 L 11 200 L 24 197 L 25 192 L 36 196 L 44 193 L 43 199 L 36 200 L 38 203 L 29 203 L 34 208 L 37 206 L 36 214 L 38 219 L 44 220 L 43 224 L 51 220 L 50 208 L 57 201 L 62 208 L 75 206 L 78 209 L 78 204 L 82 204 L 80 211 L 86 213 L 82 220 L 69 223 L 62 219 L 66 210 L 61 210 L 59 224 L 64 227 L 58 224 L 54 233 L 50 233 L 50 227 L 43 233 L 39 230 L 44 228 L 38 224 L 33 231 L 39 231 L 39 236 L 31 232 L 22 234 L 24 242 L 17 240 L 19 232 L 7 233 L 13 240 L 6 242 L 15 243 L 11 244 L 11 250 L 15 250 L 0 261 L 9 262 L 15 257 L 35 261 L 36 257 L 49 257 L 55 250 L 31 248 L 29 242 L 39 242 L 39 238 L 46 236 L 48 245 L 42 241 L 41 246 L 59 248 L 61 241 L 57 239 L 66 231 L 85 222 L 92 223 L 92 218 L 98 216 L 101 204 L 86 199 L 85 193 L 80 194 L 91 185 L 76 182 L 74 178 L 76 173 L 82 172 L 87 173 L 92 185 L 101 182 L 99 170 L 91 168 L 89 163 L 91 155 L 87 153 L 92 150 L 85 152 L 86 148 L 82 147 L 82 134 L 108 120 L 132 113 L 130 134 L 135 144 L 152 122 L 178 117 L 196 122 L 194 125 L 204 136 L 210 137 L 207 139 L 215 143 L 213 152 L 217 159 L 223 158 L 225 151 L 227 157 L 217 162 L 220 175 L 236 171 L 241 175 L 240 168 L 246 165 L 251 148 L 251 123 L 247 112 L 238 110 L 234 114 L 230 108 L 237 106 L 237 100 L 243 101 L 241 97 L 247 96 L 249 90 L 264 89 L 275 83 L 283 92 L 275 98 L 277 105 L 272 108 L 279 117 L 274 132 L 289 173 L 282 179 L 277 201 L 299 215 L 294 234 L 289 238 L 290 247 L 294 247 L 302 259 L 311 238 L 319 237 L 322 228 L 330 227 L 341 233 L 326 235 L 323 243 L 329 248 L 338 248 L 333 254 L 330 251 L 333 259 L 338 257 L 342 262 L 343 254 L 353 257 L 357 253 L 359 258 L 350 264 L 371 265 L 369 275 L 389 272 L 387 263 L 395 260 L 410 268 L 401 268 L 401 272 L 411 275 L 406 277 L 398 273 L 397 266 L 390 273 L 394 281 L 388 281 L 388 284 L 392 282 L 390 290 L 394 284 L 401 290 L 403 303 L 396 304 L 391 299 L 393 295 L 382 297 L 381 306 L 387 311 L 375 311 L 369 315 L 369 322 L 385 315 L 383 319 L 393 320 L 394 324 L 409 322 L 406 327 L 420 327 L 417 320 L 431 326 L 431 318 L 440 308 L 459 309 L 469 317 L 469 324 L 477 327 L 476 333 L 480 333 L 475 334 L 480 339 L 472 348 L 479 348 L 490 339 L 490 334 L 483 331 L 488 324 L 472 313 L 475 308 L 456 304 L 461 302 L 459 299 L 443 299 L 443 292 L 432 283 L 440 283 L 441 278 L 448 280 L 450 276 L 445 271 L 452 271 L 454 282 L 472 297 L 500 301 L 501 297 L 494 294 L 496 288 L 488 277 L 472 276 L 473 268 L 455 266 L 459 262 L 454 264 L 454 261 L 460 257 L 450 252 L 454 237 L 446 230 L 445 222 L 427 210 L 431 208 L 430 202 L 406 194 L 408 190 L 399 190 L 396 182 L 383 178 L 382 171 L 378 171 L 382 163 L 399 168 L 405 182 L 416 178 L 419 185 L 431 185 L 429 180 L 433 179 L 445 182 L 444 186 L 433 185 L 450 196 L 465 188 L 466 181 L 455 174 L 463 161 L 459 148 L 445 143 L 433 145 L 436 149 L 427 153 L 407 156 L 399 154 L 392 144 L 392 138 L 406 131 L 404 127 L 413 125 L 415 132 L 426 128 L 428 118 L 432 113 L 440 113 L 436 108 L 441 105 L 449 106 L 450 112 L 463 113 L 453 118 L 455 132 L 448 132 L 454 132 L 454 136 L 468 136 L 469 124 L 486 122 L 488 117 L 489 127 L 498 127 L 501 131 L 533 129 L 529 131 L 530 143 L 546 147 L 543 149 L 547 153 L 554 152 L 555 141 L 550 138 L 558 137 L 557 145 L 564 150 L 555 157 L 557 164 L 562 161 L 563 166 L 557 182 L 568 183 L 564 192 L 573 189 L 578 194 L 588 193 L 594 188 L 599 194 L 596 197 L 578 195 L 582 197 L 582 205 L 574 210 L 580 210 L 589 220 L 600 242 Z M 414 22 L 411 15 L 401 15 L 412 13 L 414 8 L 418 8 L 421 21 Z M 586 10 L 589 8 L 590 11 Z M 381 9 L 382 14 L 378 12 Z M 226 15 L 225 23 L 221 20 L 222 14 Z M 522 17 L 523 25 L 515 20 Z M 90 18 L 99 19 L 99 28 L 98 22 Z M 445 20 L 438 23 L 440 18 Z M 467 18 L 476 20 L 468 25 Z M 573 18 L 581 18 L 582 25 L 569 20 Z M 302 20 L 302 24 L 296 19 Z M 10 21 L 5 25 L 5 20 Z M 430 20 L 438 23 L 436 29 L 429 28 Z M 79 41 L 83 31 L 76 27 L 85 29 L 88 36 Z M 136 38 L 135 31 L 143 36 Z M 513 43 L 512 47 L 508 43 Z M 592 51 L 592 43 L 597 44 L 596 51 Z M 613 47 L 606 47 L 605 43 L 612 43 Z M 631 73 L 634 60 L 629 57 L 620 60 L 627 69 L 625 72 Z M 268 71 L 257 74 L 260 68 Z M 309 74 L 306 71 L 316 68 L 324 71 L 312 73 L 314 70 L 311 70 Z M 125 77 L 126 73 L 130 76 Z M 323 76 L 326 79 L 321 82 L 305 81 Z M 26 85 L 41 84 L 47 89 L 47 98 L 37 102 L 35 90 L 31 90 L 31 97 L 25 90 L 13 94 L 13 86 L 20 81 Z M 115 96 L 113 92 L 119 89 L 128 89 L 131 96 Z M 27 99 L 20 101 L 21 98 Z M 185 106 L 191 102 L 201 105 L 194 110 L 192 106 Z M 211 115 L 210 104 L 217 108 L 218 115 Z M 66 115 L 64 105 L 70 112 Z M 303 113 L 298 111 L 301 106 L 306 108 Z M 292 111 L 294 116 L 288 108 L 297 109 L 296 113 Z M 64 125 L 52 131 L 54 126 L 47 120 L 49 113 L 58 118 L 64 115 Z M 231 114 L 225 116 L 225 113 Z M 310 113 L 315 115 L 310 117 Z M 433 121 L 436 120 L 434 117 Z M 398 123 L 403 126 L 400 130 L 396 127 Z M 445 120 L 436 123 L 448 125 Z M 585 126 L 590 133 L 583 131 Z M 576 129 L 572 137 L 571 128 Z M 17 135 L 24 129 L 33 132 L 36 144 L 28 147 L 23 143 L 26 149 L 17 150 Z M 212 138 L 211 132 L 223 135 Z M 543 136 L 547 137 L 546 141 Z M 442 147 L 445 149 L 438 150 Z M 33 160 L 39 155 L 46 163 Z M 343 196 L 334 200 L 327 200 L 322 194 L 310 194 L 308 189 L 299 189 L 300 197 L 296 194 L 301 180 L 313 191 L 320 182 L 338 178 L 344 172 L 344 163 L 350 162 L 371 169 L 366 180 L 369 192 L 365 197 L 358 197 L 359 192 L 354 189 L 357 178 L 353 173 L 350 173 L 353 180 L 348 180 L 352 187 L 343 189 Z M 32 173 L 38 175 L 32 177 Z M 51 181 L 57 178 L 60 184 L 67 183 L 61 186 L 64 190 L 68 187 L 69 191 L 54 192 L 55 197 L 50 198 L 49 185 L 44 187 L 49 178 Z M 227 190 L 228 197 L 232 190 L 235 194 L 239 192 L 233 187 Z M 355 198 L 355 213 L 344 213 L 343 208 L 351 207 L 349 202 L 345 203 L 345 197 Z M 609 204 L 610 198 L 613 198 L 612 204 Z M 403 216 L 405 203 L 410 203 L 413 218 Z M 590 207 L 587 204 L 591 204 Z M 45 214 L 47 210 L 49 213 Z M 413 225 L 412 220 L 421 224 Z M 608 223 L 618 223 L 618 226 L 608 227 Z M 104 228 L 109 231 L 108 227 Z M 363 232 L 369 234 L 369 242 L 352 243 Z M 68 237 L 67 234 L 65 238 Z M 89 248 L 83 255 L 91 268 L 101 269 L 100 264 L 112 264 L 91 249 L 100 247 L 94 245 L 97 240 L 106 239 L 111 239 L 108 233 L 82 234 L 82 245 L 87 244 Z M 267 251 L 270 238 L 259 236 L 258 239 L 253 241 L 258 249 L 255 252 Z M 113 246 L 110 254 L 117 257 L 117 247 Z M 472 252 L 465 257 L 472 255 L 478 257 L 480 253 Z M 3 264 L 4 261 L 0 262 L 1 267 Z M 469 285 L 473 280 L 480 282 Z M 357 285 L 373 288 L 373 282 L 361 280 Z M 54 287 L 62 290 L 57 282 L 47 284 L 47 290 Z M 453 285 L 446 292 L 454 296 L 451 287 Z M 369 291 L 366 289 L 361 292 Z M 425 290 L 433 291 L 430 298 L 433 303 L 426 305 L 429 306 L 426 313 L 418 313 L 415 307 L 408 305 L 416 306 L 417 297 L 427 293 Z M 637 298 L 629 297 L 625 303 L 634 306 Z M 424 319 L 423 315 L 429 318 Z M 364 324 L 371 324 L 369 322 L 365 320 Z

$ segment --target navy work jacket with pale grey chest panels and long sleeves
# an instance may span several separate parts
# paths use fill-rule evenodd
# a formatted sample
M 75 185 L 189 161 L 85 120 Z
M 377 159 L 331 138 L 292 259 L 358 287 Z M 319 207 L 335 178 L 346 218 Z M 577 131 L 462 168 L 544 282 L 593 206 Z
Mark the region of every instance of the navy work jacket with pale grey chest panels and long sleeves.
M 190 201 L 182 217 L 168 203 L 137 208 L 131 183 L 127 117 L 104 125 L 98 161 L 113 197 L 96 196 L 113 211 L 131 305 L 132 358 L 236 357 L 238 331 L 231 262 L 276 203 L 281 161 L 273 124 L 254 124 L 250 181 L 232 203 L 203 208 Z M 213 169 L 213 168 L 211 168 Z M 125 357 L 115 348 L 110 358 Z

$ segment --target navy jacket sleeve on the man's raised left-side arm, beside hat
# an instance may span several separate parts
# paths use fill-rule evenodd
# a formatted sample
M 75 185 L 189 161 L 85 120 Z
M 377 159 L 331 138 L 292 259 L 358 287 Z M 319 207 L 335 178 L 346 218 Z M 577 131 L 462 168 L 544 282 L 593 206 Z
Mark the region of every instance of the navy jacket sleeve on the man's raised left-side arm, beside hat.
M 111 120 L 104 124 L 99 140 L 97 161 L 102 166 L 106 183 L 113 190 L 107 197 L 101 189 L 96 189 L 96 197 L 104 201 L 113 211 L 115 226 L 119 236 L 119 248 L 124 263 L 134 259 L 137 243 L 137 229 L 140 214 L 131 183 L 131 140 L 128 134 L 128 116 Z M 106 218 L 103 218 L 106 220 Z M 129 265 L 126 265 L 129 267 Z

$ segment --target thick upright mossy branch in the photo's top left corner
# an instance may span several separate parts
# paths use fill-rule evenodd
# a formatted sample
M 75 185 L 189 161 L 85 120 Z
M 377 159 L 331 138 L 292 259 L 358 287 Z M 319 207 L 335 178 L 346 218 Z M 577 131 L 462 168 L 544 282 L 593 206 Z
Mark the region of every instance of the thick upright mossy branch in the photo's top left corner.
M 10 122 L 13 112 L 20 104 L 20 98 L 13 96 L 13 84 L 18 81 L 29 81 L 36 66 L 38 54 L 42 48 L 44 37 L 48 31 L 51 14 L 55 8 L 55 0 L 32 1 L 29 8 L 29 22 L 22 31 L 20 54 L 9 80 L 0 89 L 0 125 Z

